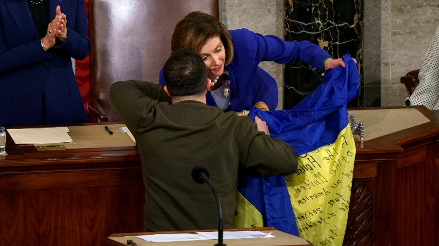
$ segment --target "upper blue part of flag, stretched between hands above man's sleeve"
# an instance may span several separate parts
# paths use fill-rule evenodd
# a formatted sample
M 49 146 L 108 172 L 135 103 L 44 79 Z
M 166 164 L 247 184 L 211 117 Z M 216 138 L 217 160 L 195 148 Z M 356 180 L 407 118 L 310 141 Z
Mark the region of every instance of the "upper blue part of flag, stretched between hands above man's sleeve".
M 339 66 L 325 72 L 322 84 L 292 110 L 262 112 L 254 115 L 267 122 L 270 135 L 291 145 L 298 155 L 334 143 L 348 124 L 347 103 L 358 95 L 359 75 L 350 55 L 342 57 L 346 69 Z

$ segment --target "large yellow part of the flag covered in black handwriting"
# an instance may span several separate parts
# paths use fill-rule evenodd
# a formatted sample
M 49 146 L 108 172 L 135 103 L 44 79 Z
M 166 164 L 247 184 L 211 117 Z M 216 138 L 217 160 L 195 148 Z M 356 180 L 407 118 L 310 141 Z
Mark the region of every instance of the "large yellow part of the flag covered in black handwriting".
M 354 173 L 350 126 L 334 144 L 298 156 L 298 171 L 285 176 L 299 235 L 313 245 L 341 246 Z

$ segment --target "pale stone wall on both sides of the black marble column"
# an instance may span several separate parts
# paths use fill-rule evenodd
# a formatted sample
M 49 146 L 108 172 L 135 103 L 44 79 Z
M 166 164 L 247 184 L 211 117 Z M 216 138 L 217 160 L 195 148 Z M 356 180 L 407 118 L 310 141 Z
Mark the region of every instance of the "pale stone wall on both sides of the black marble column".
M 220 5 L 221 21 L 229 29 L 245 27 L 283 38 L 284 0 L 220 0 Z M 364 19 L 365 87 L 380 85 L 381 106 L 403 105 L 408 94 L 399 78 L 420 68 L 439 24 L 439 1 L 364 0 Z M 281 102 L 283 66 L 267 62 L 261 67 L 278 81 Z M 368 98 L 375 99 L 367 93 L 379 92 L 366 89 L 366 106 Z M 281 107 L 279 103 L 278 109 Z

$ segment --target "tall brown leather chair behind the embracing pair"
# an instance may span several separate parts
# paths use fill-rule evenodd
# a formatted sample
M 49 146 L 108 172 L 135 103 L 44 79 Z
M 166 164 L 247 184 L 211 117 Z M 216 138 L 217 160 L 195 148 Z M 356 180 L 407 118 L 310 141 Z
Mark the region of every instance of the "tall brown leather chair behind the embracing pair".
M 93 95 L 87 103 L 95 122 L 121 121 L 108 98 L 112 83 L 147 80 L 171 54 L 171 36 L 192 11 L 219 18 L 218 0 L 90 0 Z

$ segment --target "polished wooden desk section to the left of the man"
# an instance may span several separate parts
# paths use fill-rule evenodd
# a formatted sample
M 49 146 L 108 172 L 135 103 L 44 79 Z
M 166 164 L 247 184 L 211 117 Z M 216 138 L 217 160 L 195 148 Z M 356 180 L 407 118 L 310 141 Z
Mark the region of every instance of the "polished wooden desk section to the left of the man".
M 134 144 L 37 151 L 9 135 L 6 141 L 0 245 L 100 245 L 112 233 L 142 231 L 144 186 Z

